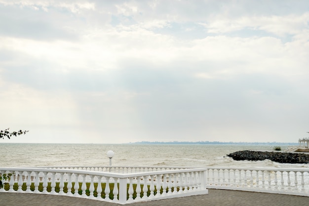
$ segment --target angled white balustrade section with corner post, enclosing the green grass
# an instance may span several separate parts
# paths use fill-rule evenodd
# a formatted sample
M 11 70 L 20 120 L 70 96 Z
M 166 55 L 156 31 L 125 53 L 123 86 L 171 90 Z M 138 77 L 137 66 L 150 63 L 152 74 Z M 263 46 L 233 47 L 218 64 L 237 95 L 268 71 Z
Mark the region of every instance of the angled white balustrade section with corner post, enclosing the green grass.
M 93 170 L 103 167 L 93 166 L 89 167 L 91 170 L 82 170 L 88 168 L 83 166 L 76 168 L 78 169 L 0 168 L 1 174 L 13 174 L 10 181 L 5 182 L 9 184 L 9 187 L 6 188 L 8 191 L 1 189 L 0 192 L 65 195 L 118 204 L 208 193 L 205 187 L 206 168 L 169 169 L 137 173 L 103 172 Z M 132 170 L 132 168 L 134 169 Z M 136 168 L 126 167 L 121 172 L 136 171 Z M 146 167 L 140 169 L 144 168 Z M 156 170 L 156 168 L 147 167 L 147 170 Z M 185 178 L 180 178 L 184 175 Z M 128 189 L 127 184 L 129 185 Z M 204 187 L 199 185 L 204 185 Z M 105 195 L 102 194 L 103 192 Z M 134 194 L 136 194 L 136 197 Z

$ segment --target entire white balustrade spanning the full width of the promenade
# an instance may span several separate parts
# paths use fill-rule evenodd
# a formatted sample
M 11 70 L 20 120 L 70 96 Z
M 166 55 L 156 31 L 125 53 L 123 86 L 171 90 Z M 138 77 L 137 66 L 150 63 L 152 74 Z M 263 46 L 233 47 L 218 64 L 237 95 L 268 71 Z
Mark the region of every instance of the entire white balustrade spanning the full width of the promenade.
M 309 169 L 302 168 L 57 166 L 0 168 L 0 173 L 13 174 L 5 181 L 8 191 L 2 188 L 0 192 L 66 195 L 118 204 L 207 194 L 206 188 L 309 197 Z

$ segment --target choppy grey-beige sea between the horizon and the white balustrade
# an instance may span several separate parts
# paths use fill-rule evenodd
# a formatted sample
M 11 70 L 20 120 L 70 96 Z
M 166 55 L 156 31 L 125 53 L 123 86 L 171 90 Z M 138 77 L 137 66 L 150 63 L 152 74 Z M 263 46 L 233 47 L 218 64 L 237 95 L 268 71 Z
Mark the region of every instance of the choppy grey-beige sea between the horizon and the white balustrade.
M 240 150 L 271 151 L 273 145 L 43 143 L 0 143 L 0 167 L 109 165 L 109 150 L 115 153 L 112 165 L 118 166 L 309 168 L 308 164 L 234 161 L 227 157 Z

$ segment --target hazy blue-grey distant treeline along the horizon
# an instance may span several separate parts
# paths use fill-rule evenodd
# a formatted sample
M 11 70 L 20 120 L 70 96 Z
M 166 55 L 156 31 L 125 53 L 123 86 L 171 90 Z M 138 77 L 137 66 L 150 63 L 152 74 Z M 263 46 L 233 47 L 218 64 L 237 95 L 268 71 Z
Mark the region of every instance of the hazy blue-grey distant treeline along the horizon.
M 199 141 L 199 142 L 130 142 L 129 144 L 221 144 L 221 145 L 298 145 L 295 142 L 219 142 L 219 141 Z

